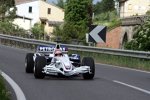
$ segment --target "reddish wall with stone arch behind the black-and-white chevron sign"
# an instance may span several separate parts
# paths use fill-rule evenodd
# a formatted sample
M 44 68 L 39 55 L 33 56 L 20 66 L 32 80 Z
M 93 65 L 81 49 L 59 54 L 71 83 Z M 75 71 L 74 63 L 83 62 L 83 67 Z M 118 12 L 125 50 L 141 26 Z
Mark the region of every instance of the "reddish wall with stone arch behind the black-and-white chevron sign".
M 132 40 L 136 26 L 120 26 L 106 34 L 106 43 L 98 43 L 98 47 L 121 49 L 125 41 Z M 124 41 L 124 38 L 127 38 Z

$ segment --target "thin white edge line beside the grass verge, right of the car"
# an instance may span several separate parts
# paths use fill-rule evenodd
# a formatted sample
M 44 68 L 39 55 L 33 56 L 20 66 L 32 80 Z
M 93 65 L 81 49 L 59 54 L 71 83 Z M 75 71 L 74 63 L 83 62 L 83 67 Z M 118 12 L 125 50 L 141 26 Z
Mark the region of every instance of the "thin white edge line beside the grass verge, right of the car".
M 142 73 L 150 74 L 149 71 L 143 71 L 143 70 L 138 70 L 138 69 L 133 69 L 133 68 L 128 68 L 128 67 L 121 67 L 121 66 L 108 65 L 108 64 L 100 64 L 100 63 L 96 63 L 96 64 L 98 64 L 98 65 L 107 65 L 107 66 L 109 66 L 109 67 L 115 67 L 115 68 L 127 69 L 127 70 L 136 71 L 136 72 L 142 72 Z

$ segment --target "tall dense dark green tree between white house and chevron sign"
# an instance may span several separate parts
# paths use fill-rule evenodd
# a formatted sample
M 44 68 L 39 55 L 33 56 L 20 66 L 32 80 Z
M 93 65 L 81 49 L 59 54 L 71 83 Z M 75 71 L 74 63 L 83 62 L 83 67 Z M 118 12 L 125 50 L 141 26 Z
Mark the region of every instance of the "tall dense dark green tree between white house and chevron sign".
M 67 0 L 64 30 L 71 39 L 85 39 L 92 23 L 92 0 Z M 71 28 L 71 29 L 70 29 Z

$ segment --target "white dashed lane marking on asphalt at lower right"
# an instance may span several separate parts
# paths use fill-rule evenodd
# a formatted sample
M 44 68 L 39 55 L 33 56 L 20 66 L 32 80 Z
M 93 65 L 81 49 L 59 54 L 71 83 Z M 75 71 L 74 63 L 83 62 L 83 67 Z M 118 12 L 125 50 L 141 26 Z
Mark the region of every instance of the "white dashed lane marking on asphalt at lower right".
M 113 80 L 113 82 L 118 83 L 118 84 L 121 84 L 121 85 L 124 85 L 124 86 L 127 86 L 127 87 L 130 87 L 130 88 L 132 88 L 132 89 L 135 89 L 135 90 L 138 90 L 138 91 L 141 91 L 141 92 L 144 92 L 144 93 L 146 93 L 146 94 L 149 94 L 149 95 L 150 95 L 150 91 L 148 91 L 148 90 L 145 90 L 145 89 L 142 89 L 142 88 L 139 88 L 139 87 L 133 86 L 133 85 L 129 85 L 129 84 L 126 84 L 126 83 L 123 83 L 123 82 L 117 81 L 117 80 Z

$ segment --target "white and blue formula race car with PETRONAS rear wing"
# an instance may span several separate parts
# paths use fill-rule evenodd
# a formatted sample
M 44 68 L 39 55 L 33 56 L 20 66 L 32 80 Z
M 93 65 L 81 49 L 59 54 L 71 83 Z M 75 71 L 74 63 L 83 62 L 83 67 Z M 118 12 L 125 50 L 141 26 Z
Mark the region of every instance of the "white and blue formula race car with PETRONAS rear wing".
M 26 73 L 34 73 L 35 78 L 43 79 L 46 75 L 76 76 L 82 74 L 84 79 L 93 79 L 95 63 L 93 58 L 80 55 L 68 55 L 68 48 L 55 46 L 38 46 L 36 52 L 27 53 L 25 58 Z

